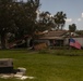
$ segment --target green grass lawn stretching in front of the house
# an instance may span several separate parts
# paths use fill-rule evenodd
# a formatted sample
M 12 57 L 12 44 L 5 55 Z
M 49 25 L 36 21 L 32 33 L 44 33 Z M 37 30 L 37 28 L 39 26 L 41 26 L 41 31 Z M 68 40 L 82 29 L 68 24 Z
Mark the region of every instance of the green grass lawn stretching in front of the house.
M 26 68 L 26 76 L 35 79 L 25 81 L 83 81 L 83 56 L 56 55 L 70 51 L 56 51 L 42 54 L 26 50 L 0 51 L 0 58 L 13 58 L 14 68 Z M 83 53 L 72 51 L 72 53 Z M 17 79 L 0 79 L 0 81 L 21 81 Z

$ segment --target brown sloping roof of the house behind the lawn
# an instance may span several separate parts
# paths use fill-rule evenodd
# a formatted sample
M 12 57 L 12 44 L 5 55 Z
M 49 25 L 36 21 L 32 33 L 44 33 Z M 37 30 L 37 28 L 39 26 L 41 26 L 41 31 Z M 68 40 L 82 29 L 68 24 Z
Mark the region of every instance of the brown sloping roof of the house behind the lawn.
M 67 33 L 67 30 L 52 30 L 46 32 L 40 39 L 63 39 L 63 35 Z

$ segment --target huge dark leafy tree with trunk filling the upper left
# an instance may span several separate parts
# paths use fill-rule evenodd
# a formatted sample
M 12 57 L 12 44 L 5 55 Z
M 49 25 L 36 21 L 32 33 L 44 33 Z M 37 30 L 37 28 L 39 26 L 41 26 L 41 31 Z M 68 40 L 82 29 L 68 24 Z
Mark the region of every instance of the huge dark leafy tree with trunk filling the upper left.
M 14 32 L 22 38 L 24 35 L 34 36 L 36 30 L 36 10 L 39 0 L 0 0 L 0 35 L 1 46 L 5 48 L 8 32 Z

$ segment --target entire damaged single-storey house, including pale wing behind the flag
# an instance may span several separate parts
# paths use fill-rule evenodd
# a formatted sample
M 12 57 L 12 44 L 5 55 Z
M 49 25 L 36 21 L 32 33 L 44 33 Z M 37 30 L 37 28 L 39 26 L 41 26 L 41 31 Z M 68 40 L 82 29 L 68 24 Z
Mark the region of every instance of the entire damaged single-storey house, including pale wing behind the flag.
M 48 31 L 39 39 L 36 39 L 35 42 L 45 42 L 48 46 L 63 46 L 69 45 L 70 38 L 73 38 L 83 46 L 83 37 L 68 30 Z

